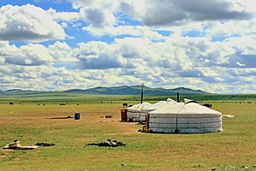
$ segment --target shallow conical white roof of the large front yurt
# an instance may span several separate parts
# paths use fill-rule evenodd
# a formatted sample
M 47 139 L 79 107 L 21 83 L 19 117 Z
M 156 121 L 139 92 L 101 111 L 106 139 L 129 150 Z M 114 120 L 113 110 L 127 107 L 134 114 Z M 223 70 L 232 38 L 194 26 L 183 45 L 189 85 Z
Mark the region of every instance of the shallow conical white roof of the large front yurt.
M 163 108 L 156 109 L 150 114 L 175 114 L 175 115 L 222 115 L 220 112 L 209 109 L 199 103 L 175 103 L 171 106 L 164 106 Z

